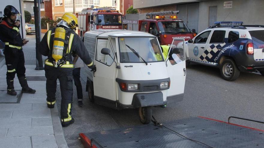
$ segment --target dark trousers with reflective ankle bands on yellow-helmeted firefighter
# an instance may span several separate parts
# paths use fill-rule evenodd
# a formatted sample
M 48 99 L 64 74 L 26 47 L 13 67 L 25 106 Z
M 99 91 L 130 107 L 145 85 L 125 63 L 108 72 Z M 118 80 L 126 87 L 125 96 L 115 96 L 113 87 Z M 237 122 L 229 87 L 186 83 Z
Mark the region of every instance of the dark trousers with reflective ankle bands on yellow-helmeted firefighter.
M 71 118 L 71 105 L 72 105 L 72 94 L 73 94 L 73 76 L 72 70 L 63 71 L 63 68 L 54 68 L 52 66 L 45 65 L 45 76 L 46 80 L 46 93 L 47 93 L 47 104 L 55 104 L 55 93 L 57 86 L 57 79 L 60 82 L 61 88 L 61 121 L 68 122 Z M 67 68 L 68 69 L 68 68 Z

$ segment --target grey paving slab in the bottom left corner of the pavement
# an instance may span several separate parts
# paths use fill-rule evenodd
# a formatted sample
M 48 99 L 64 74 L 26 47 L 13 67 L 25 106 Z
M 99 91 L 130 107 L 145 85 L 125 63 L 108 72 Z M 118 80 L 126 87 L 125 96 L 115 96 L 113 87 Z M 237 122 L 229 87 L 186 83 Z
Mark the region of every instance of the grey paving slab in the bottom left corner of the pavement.
M 14 147 L 31 148 L 32 147 L 29 136 L 0 138 L 0 144 L 1 144 L 1 148 L 14 148 Z

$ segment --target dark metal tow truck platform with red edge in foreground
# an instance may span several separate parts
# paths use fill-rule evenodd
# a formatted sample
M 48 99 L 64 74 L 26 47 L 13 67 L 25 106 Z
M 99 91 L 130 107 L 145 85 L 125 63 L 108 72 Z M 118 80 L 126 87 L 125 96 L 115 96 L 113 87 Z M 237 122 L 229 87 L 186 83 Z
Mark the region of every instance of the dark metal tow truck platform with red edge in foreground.
M 264 148 L 264 130 L 201 116 L 79 136 L 85 148 Z

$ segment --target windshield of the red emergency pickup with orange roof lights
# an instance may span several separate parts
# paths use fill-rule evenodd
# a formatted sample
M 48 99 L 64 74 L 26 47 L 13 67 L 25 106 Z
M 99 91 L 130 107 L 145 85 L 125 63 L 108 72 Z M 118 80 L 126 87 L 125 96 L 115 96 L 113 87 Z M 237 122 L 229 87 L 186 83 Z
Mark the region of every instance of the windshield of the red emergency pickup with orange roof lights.
M 161 33 L 192 33 L 182 21 L 158 22 Z

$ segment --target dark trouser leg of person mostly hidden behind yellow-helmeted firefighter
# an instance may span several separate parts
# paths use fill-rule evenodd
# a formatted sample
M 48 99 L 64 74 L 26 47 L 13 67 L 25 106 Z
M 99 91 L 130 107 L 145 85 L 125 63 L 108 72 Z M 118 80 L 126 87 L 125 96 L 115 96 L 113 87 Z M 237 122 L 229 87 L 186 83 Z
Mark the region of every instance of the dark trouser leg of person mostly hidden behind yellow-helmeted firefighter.
M 80 81 L 80 70 L 80 67 L 73 69 L 73 80 L 77 90 L 78 101 L 82 101 L 82 83 Z

